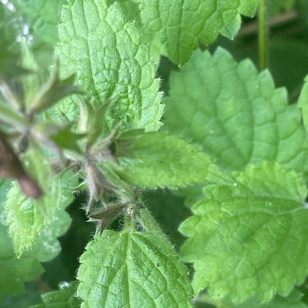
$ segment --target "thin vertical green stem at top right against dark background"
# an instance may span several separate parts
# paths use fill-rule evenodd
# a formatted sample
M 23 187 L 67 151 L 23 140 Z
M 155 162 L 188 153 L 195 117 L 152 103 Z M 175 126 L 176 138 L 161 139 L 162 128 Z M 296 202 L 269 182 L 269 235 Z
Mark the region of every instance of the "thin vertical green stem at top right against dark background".
M 261 0 L 259 14 L 259 66 L 260 70 L 268 64 L 268 24 L 267 24 L 267 0 Z

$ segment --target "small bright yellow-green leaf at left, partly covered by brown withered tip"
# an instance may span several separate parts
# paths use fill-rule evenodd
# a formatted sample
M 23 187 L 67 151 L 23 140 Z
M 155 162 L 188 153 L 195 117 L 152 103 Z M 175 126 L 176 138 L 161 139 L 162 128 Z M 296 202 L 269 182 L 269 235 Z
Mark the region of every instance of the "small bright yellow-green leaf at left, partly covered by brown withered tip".
M 8 192 L 6 223 L 17 257 L 34 245 L 37 235 L 51 223 L 56 210 L 65 209 L 73 201 L 71 192 L 78 183 L 72 171 L 53 176 L 49 163 L 38 151 L 29 152 L 23 161 L 42 186 L 45 195 L 39 200 L 28 198 L 16 182 Z

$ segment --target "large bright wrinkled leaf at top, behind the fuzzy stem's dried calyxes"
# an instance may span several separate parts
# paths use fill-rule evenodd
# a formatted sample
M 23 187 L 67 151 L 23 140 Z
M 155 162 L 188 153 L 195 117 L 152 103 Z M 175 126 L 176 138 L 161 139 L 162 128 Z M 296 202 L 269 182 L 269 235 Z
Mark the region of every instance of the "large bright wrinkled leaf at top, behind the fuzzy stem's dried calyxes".
M 127 129 L 159 129 L 163 105 L 157 66 L 118 3 L 108 7 L 106 0 L 69 0 L 62 10 L 59 36 L 56 54 L 63 77 L 76 72 L 78 84 L 94 98 L 94 107 L 110 97 L 117 100 L 107 114 L 105 134 L 121 120 Z M 57 112 L 73 120 L 77 109 L 78 101 L 70 99 Z

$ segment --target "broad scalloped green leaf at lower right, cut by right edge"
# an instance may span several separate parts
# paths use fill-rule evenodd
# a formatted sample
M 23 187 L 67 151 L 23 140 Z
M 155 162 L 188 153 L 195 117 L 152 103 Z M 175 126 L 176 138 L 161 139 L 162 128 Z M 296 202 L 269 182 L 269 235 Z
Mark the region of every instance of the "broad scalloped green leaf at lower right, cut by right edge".
M 308 274 L 305 181 L 278 164 L 249 165 L 234 186 L 210 185 L 194 216 L 180 226 L 189 239 L 182 259 L 194 262 L 193 285 L 213 299 L 261 302 L 288 295 Z

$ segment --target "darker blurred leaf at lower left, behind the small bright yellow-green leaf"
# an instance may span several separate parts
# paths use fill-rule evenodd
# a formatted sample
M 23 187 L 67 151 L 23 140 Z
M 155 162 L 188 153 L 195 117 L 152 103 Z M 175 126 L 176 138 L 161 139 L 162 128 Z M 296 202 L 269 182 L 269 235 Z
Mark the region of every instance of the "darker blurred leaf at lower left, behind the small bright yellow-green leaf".
M 24 283 L 41 276 L 44 268 L 41 262 L 48 262 L 61 251 L 57 237 L 63 235 L 70 226 L 71 219 L 65 211 L 58 210 L 48 227 L 44 227 L 31 250 L 25 251 L 17 259 L 12 241 L 5 225 L 4 204 L 9 181 L 0 183 L 0 301 L 3 295 L 17 296 L 24 293 Z

